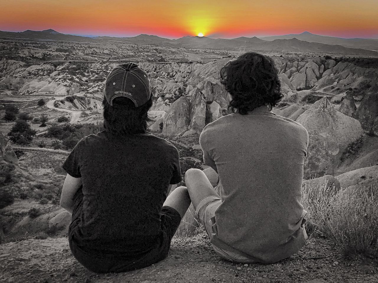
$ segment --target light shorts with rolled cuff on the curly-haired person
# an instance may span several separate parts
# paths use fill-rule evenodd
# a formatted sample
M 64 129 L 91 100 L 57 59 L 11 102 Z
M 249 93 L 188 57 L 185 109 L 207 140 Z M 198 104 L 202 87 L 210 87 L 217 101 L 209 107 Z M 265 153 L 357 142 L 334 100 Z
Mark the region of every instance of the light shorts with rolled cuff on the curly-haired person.
M 197 210 L 195 211 L 195 217 L 205 228 L 210 240 L 217 235 L 218 229 L 215 223 L 215 211 L 222 204 L 222 200 L 217 195 L 209 195 L 203 198 L 197 205 Z M 237 254 L 232 251 L 226 251 L 225 249 L 219 248 L 212 244 L 214 251 L 220 255 L 220 257 L 225 258 L 228 261 L 235 263 L 255 263 L 256 260 L 252 260 L 243 255 Z

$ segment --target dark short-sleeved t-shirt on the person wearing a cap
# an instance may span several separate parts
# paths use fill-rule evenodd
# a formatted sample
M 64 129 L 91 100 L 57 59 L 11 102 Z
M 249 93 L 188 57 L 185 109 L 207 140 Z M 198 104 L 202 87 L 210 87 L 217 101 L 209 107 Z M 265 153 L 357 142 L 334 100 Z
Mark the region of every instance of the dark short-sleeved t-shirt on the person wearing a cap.
M 156 244 L 169 184 L 181 181 L 178 151 L 169 141 L 102 131 L 80 140 L 63 168 L 82 180 L 77 245 L 135 255 Z

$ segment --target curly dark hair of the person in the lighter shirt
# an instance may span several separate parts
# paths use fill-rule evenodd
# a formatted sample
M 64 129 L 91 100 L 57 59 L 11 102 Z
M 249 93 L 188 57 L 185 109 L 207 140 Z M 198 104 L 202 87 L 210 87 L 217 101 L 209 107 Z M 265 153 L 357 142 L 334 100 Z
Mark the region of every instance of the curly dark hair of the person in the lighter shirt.
M 231 95 L 228 109 L 233 113 L 245 115 L 263 105 L 271 110 L 283 97 L 272 58 L 256 52 L 247 52 L 223 66 L 220 82 Z

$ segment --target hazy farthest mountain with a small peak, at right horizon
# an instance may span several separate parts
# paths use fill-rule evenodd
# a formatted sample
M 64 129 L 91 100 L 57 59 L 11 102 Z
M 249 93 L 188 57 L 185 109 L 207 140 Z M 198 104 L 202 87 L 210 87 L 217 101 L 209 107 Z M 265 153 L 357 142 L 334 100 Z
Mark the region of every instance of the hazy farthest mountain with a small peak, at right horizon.
M 276 39 L 292 39 L 297 38 L 307 42 L 318 42 L 331 45 L 342 45 L 350 48 L 362 48 L 366 50 L 378 50 L 378 39 L 372 38 L 340 38 L 332 36 L 324 36 L 318 34 L 312 34 L 305 31 L 301 34 L 286 34 L 261 37 L 263 40 L 273 41 Z

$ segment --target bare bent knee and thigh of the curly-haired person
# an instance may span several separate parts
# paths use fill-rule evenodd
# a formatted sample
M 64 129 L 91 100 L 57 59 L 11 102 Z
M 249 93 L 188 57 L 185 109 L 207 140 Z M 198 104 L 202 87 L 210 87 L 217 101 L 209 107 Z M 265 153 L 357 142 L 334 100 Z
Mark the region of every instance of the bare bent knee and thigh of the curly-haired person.
M 206 174 L 200 169 L 191 168 L 186 171 L 185 183 L 194 209 L 197 209 L 198 203 L 203 200 L 203 198 L 209 195 L 218 196 L 208 177 L 206 177 Z

